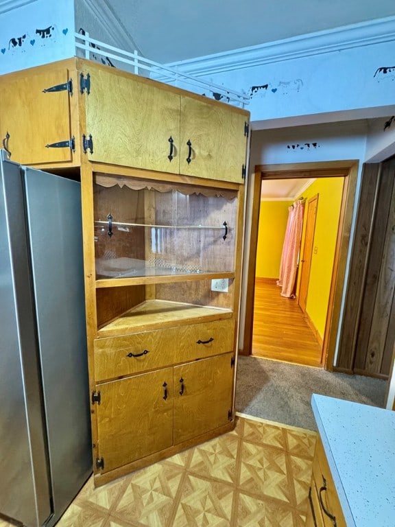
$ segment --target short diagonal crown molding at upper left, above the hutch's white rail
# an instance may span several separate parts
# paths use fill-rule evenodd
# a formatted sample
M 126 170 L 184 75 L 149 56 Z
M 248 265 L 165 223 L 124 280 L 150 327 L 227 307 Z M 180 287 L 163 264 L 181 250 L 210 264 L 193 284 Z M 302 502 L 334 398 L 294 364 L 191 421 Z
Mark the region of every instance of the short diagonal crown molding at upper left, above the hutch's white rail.
M 101 27 L 111 36 L 112 40 L 117 43 L 117 47 L 125 51 L 141 51 L 126 30 L 123 23 L 119 20 L 106 0 L 82 0 L 88 10 L 92 12 Z

